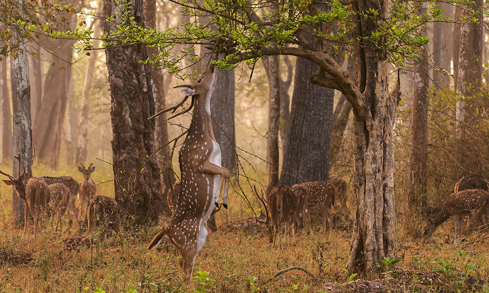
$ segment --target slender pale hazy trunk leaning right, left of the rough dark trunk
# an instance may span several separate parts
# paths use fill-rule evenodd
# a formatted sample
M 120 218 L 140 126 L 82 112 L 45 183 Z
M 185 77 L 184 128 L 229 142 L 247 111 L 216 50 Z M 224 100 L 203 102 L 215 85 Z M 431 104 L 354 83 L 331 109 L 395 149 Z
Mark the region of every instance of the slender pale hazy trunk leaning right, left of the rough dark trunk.
M 94 23 L 93 35 L 98 36 L 101 29 L 98 23 Z M 98 47 L 98 41 L 94 41 L 93 46 Z M 82 91 L 82 111 L 80 113 L 80 123 L 78 125 L 78 137 L 76 140 L 75 162 L 85 162 L 87 160 L 87 146 L 89 141 L 89 109 L 90 109 L 90 88 L 95 73 L 95 63 L 97 62 L 98 51 L 93 50 L 88 57 L 85 69 L 85 79 L 83 80 Z

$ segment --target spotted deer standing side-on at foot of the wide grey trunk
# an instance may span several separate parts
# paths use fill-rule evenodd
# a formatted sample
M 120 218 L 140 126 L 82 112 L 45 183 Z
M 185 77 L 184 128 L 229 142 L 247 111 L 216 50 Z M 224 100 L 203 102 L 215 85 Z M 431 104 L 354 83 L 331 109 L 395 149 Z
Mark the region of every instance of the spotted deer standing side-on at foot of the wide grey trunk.
M 334 196 L 336 194 L 336 188 L 333 185 L 322 182 L 305 182 L 301 184 L 295 184 L 292 186 L 292 190 L 297 190 L 300 193 L 299 187 L 304 188 L 307 192 L 308 200 L 308 212 L 307 212 L 307 223 L 311 225 L 311 214 L 310 211 L 313 209 L 319 209 L 324 217 L 324 226 L 326 228 L 328 221 L 330 227 L 330 233 L 333 231 L 333 216 L 330 213 L 330 208 L 334 206 Z M 311 227 L 309 227 L 311 230 Z

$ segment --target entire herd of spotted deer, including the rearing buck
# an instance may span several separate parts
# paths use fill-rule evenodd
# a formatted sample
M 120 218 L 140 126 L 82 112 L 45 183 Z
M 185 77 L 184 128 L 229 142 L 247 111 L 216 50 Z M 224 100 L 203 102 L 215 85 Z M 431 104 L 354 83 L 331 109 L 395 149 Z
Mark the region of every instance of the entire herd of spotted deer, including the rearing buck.
M 171 110 L 175 112 L 188 97 L 192 97 L 191 105 L 187 109 L 168 118 L 172 119 L 194 107 L 192 121 L 178 156 L 181 180 L 167 194 L 168 205 L 172 209 L 170 224 L 156 234 L 148 247 L 149 250 L 153 250 L 163 239 L 169 239 L 182 256 L 180 266 L 186 275 L 186 282 L 192 275 L 195 257 L 206 242 L 207 229 L 216 229 L 214 214 L 221 207 L 227 209 L 229 171 L 221 166 L 221 149 L 212 132 L 210 112 L 216 73 L 217 70 L 210 65 L 192 84 L 176 86 L 183 87 L 181 92 L 185 98 L 178 105 L 148 118 L 155 118 Z M 18 161 L 18 166 L 22 166 L 21 154 L 14 157 Z M 86 225 L 89 232 L 99 229 L 104 241 L 108 230 L 112 230 L 122 243 L 119 234 L 121 221 L 137 194 L 134 187 L 137 172 L 131 173 L 127 188 L 119 184 L 118 177 L 122 172 L 115 172 L 115 184 L 124 191 L 124 197 L 115 200 L 96 195 L 97 186 L 90 179 L 95 167 L 93 164 L 88 168 L 82 163 L 80 165 L 78 170 L 83 174 L 80 183 L 71 176 L 30 177 L 25 168 L 21 172 L 21 167 L 18 168 L 16 176 L 0 169 L 0 174 L 8 177 L 8 180 L 3 182 L 13 186 L 25 204 L 22 236 L 25 234 L 29 215 L 34 220 L 33 230 L 36 238 L 38 227 L 43 226 L 44 215 L 51 217 L 53 221 L 56 216 L 56 230 L 59 226 L 61 232 L 61 217 L 67 212 L 70 227 L 72 222 L 76 221 L 80 226 Z M 335 202 L 340 204 L 341 209 L 345 208 L 346 188 L 346 182 L 339 176 L 330 176 L 328 182 L 305 182 L 290 187 L 279 185 L 270 188 L 266 196 L 264 191 L 259 195 L 254 186 L 255 196 L 265 211 L 265 220 L 257 221 L 271 224 L 271 241 L 276 246 L 280 246 L 282 233 L 284 241 L 287 239 L 289 230 L 292 235 L 297 229 L 302 228 L 311 232 L 311 211 L 314 209 L 323 216 L 324 229 L 331 232 L 331 209 Z M 79 201 L 79 213 L 75 210 L 76 199 Z M 482 216 L 488 214 L 488 206 L 488 182 L 478 175 L 465 176 L 456 183 L 454 193 L 447 198 L 440 212 L 428 222 L 424 235 L 432 235 L 437 227 L 448 218 L 452 218 L 457 240 L 460 237 L 462 218 L 466 215 L 472 216 L 478 225 L 482 225 Z M 90 237 L 91 254 L 92 247 L 93 237 Z

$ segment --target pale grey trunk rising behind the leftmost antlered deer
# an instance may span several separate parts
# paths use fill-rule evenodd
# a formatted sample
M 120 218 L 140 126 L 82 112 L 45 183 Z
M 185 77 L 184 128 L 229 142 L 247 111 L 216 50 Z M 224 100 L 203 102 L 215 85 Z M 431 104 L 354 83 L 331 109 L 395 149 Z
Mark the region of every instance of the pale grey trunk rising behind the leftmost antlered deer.
M 23 2 L 23 1 L 21 1 Z M 15 30 L 13 39 L 16 38 Z M 25 46 L 25 45 L 23 45 Z M 30 112 L 29 57 L 27 49 L 18 52 L 17 58 L 10 58 L 10 84 L 12 90 L 13 143 L 14 154 L 22 155 L 22 166 L 14 160 L 12 174 L 18 174 L 19 168 L 25 167 L 32 175 L 32 131 Z M 12 214 L 17 225 L 24 220 L 24 203 L 12 188 Z

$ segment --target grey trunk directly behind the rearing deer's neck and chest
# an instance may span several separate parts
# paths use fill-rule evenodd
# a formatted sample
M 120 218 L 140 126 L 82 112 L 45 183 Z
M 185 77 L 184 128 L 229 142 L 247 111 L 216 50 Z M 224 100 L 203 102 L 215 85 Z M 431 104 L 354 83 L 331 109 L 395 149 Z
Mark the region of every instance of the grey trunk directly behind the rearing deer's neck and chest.
M 230 172 L 236 170 L 234 89 L 234 70 L 219 71 L 211 98 L 212 131 L 221 146 L 222 166 Z

